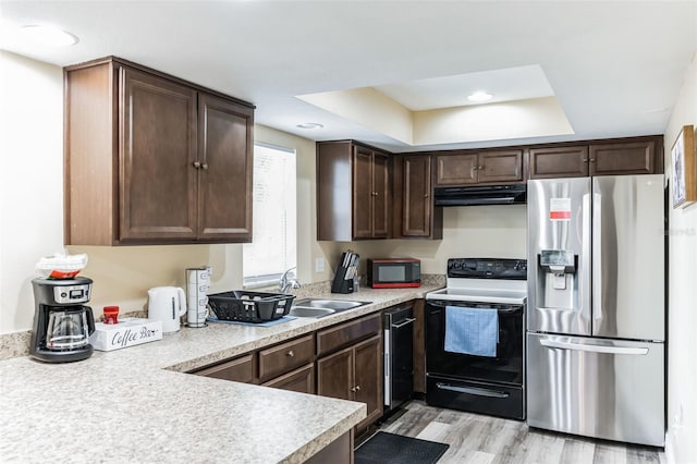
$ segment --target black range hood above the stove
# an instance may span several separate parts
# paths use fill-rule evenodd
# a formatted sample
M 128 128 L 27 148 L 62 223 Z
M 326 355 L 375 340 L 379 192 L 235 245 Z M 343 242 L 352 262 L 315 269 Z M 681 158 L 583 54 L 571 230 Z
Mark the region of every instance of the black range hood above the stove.
M 470 185 L 436 187 L 436 206 L 475 206 L 525 204 L 527 185 Z

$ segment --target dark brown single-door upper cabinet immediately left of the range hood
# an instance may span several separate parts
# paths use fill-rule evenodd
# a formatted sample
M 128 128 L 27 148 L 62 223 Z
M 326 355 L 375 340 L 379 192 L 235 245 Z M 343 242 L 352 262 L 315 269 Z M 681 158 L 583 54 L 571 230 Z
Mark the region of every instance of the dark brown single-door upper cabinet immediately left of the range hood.
M 443 208 L 433 206 L 431 159 L 431 155 L 393 157 L 394 237 L 443 236 Z

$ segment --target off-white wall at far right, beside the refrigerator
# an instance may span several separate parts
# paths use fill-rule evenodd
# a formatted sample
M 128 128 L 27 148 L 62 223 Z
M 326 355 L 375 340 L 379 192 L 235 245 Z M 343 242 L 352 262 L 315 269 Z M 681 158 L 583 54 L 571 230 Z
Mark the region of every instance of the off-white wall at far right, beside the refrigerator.
M 670 173 L 671 147 L 682 126 L 690 124 L 697 127 L 697 53 L 685 74 L 665 130 L 667 173 Z M 669 462 L 697 463 L 697 203 L 684 209 L 670 208 L 669 221 L 665 453 Z

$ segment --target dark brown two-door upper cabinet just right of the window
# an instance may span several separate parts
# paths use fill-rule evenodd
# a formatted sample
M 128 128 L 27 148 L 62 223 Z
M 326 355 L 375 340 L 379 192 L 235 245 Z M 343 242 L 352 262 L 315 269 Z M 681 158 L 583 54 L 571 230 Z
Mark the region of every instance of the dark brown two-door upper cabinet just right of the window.
M 352 141 L 317 143 L 317 240 L 390 233 L 390 156 Z

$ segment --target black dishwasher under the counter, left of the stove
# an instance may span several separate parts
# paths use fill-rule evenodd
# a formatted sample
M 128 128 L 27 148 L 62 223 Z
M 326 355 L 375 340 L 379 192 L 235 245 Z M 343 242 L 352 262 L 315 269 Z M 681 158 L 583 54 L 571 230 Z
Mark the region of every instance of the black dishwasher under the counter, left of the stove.
M 414 393 L 414 307 L 411 303 L 387 309 L 384 328 L 384 410 L 392 411 Z

